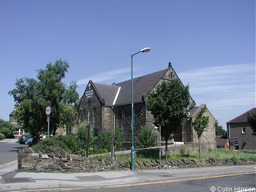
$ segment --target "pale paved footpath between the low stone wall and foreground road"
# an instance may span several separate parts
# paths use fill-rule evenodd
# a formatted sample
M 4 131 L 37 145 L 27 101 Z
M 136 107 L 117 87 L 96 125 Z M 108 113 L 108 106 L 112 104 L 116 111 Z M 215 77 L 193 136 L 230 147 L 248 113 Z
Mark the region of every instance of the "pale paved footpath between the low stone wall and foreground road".
M 92 173 L 31 173 L 18 172 L 16 163 L 1 169 L 3 174 L 0 176 L 0 191 L 109 186 L 138 182 L 179 180 L 223 174 L 255 173 L 255 168 L 255 165 L 246 165 Z

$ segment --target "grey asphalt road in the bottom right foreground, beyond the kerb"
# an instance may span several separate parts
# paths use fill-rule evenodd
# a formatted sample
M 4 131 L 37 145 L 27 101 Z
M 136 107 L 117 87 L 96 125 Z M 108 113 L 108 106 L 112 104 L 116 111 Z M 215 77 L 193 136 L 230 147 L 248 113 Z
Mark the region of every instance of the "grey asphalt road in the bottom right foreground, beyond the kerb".
M 133 183 L 127 185 L 102 186 L 102 187 L 84 187 L 84 188 L 62 188 L 50 190 L 29 190 L 29 191 L 93 191 L 93 192 L 193 192 L 193 191 L 211 191 L 211 192 L 233 192 L 233 191 L 253 191 L 256 192 L 256 174 L 233 174 L 219 175 L 204 178 L 181 179 L 172 181 L 158 181 L 146 183 Z M 254 189 L 253 189 L 254 188 Z M 247 190 L 245 190 L 247 189 Z

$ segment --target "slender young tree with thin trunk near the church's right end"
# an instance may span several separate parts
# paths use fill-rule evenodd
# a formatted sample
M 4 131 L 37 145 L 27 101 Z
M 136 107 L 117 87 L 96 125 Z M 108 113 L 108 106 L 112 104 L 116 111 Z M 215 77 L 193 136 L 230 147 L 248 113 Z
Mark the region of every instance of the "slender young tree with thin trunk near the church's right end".
M 201 108 L 201 110 L 196 114 L 195 118 L 192 121 L 192 125 L 194 126 L 194 130 L 196 131 L 197 138 L 198 138 L 199 158 L 200 158 L 200 139 L 203 134 L 203 131 L 209 124 L 209 117 L 204 116 L 205 112 L 206 112 L 206 105 Z

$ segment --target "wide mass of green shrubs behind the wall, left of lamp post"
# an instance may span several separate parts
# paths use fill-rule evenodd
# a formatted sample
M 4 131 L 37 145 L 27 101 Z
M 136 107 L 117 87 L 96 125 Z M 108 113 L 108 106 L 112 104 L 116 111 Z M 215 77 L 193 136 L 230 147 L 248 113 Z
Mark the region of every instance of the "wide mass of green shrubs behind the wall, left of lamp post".
M 86 156 L 86 125 L 86 123 L 80 123 L 76 126 L 76 133 L 46 138 L 45 140 L 39 141 L 33 148 L 36 152 L 43 149 L 46 153 L 53 153 L 54 150 L 57 150 L 60 153 L 61 149 L 65 149 L 68 153 Z M 121 148 L 123 145 L 122 130 L 116 129 L 114 133 L 113 129 L 103 129 L 99 132 L 97 137 L 93 137 L 93 129 L 90 129 L 89 155 L 93 153 L 108 153 L 110 151 L 110 141 L 112 140 L 113 135 L 116 140 L 116 148 Z M 94 151 L 93 141 L 95 146 Z

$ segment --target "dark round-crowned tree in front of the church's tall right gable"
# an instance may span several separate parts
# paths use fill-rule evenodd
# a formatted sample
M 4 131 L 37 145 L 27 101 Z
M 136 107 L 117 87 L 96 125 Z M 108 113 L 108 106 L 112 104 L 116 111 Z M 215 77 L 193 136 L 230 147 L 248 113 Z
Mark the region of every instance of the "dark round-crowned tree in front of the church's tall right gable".
M 154 116 L 154 124 L 161 125 L 161 135 L 165 140 L 165 158 L 167 160 L 167 142 L 175 127 L 182 124 L 183 118 L 191 108 L 189 85 L 183 86 L 178 79 L 163 81 L 156 90 L 148 94 L 147 109 Z

